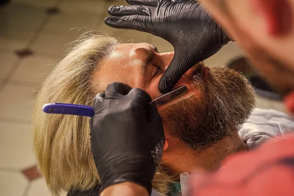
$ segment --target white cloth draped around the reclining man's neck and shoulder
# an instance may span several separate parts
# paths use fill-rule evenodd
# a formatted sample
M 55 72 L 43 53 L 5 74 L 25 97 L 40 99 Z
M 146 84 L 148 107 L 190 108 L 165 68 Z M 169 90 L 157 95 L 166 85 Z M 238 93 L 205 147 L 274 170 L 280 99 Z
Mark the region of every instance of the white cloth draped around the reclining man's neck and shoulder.
M 252 150 L 268 139 L 283 138 L 285 134 L 294 132 L 294 118 L 274 109 L 255 108 L 250 118 L 239 130 L 240 138 Z M 180 174 L 182 196 L 187 196 L 188 172 Z

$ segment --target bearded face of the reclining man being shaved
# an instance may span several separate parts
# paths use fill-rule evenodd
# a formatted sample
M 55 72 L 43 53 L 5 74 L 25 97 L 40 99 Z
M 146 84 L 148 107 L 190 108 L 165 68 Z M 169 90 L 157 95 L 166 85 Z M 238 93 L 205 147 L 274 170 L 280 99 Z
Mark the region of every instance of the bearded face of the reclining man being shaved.
M 120 44 L 104 59 L 95 83 L 106 89 L 123 82 L 144 89 L 151 98 L 162 94 L 159 80 L 172 61 L 173 52 L 159 53 L 146 44 Z M 188 93 L 158 106 L 166 136 L 179 138 L 193 149 L 209 147 L 237 131 L 255 105 L 252 87 L 239 73 L 223 68 L 204 69 L 198 63 L 176 83 Z

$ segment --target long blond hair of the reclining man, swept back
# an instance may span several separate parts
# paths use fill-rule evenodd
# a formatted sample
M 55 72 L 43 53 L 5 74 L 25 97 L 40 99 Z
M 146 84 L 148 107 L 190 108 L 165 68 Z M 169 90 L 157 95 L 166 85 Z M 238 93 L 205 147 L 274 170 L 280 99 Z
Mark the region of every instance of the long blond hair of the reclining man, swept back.
M 97 186 L 99 176 L 91 153 L 89 118 L 45 114 L 42 106 L 50 102 L 93 105 L 95 95 L 103 91 L 97 84 L 94 87 L 93 74 L 119 43 L 117 38 L 97 31 L 82 34 L 38 92 L 33 147 L 39 171 L 53 196 L 72 189 L 91 189 Z M 172 177 L 159 168 L 153 189 L 166 195 L 172 182 Z

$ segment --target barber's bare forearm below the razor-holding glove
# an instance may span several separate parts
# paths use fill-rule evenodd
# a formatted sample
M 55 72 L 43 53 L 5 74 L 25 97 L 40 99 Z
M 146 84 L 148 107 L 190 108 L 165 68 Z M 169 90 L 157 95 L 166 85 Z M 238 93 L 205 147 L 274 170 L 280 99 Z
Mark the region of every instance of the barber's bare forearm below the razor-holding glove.
M 149 196 L 146 188 L 131 182 L 123 182 L 107 187 L 100 196 Z

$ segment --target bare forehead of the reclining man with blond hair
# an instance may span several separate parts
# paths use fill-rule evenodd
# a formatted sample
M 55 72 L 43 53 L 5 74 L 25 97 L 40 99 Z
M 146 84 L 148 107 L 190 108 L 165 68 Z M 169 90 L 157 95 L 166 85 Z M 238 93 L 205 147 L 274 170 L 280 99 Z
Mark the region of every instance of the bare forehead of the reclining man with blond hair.
M 155 49 L 156 47 L 147 43 L 117 45 L 95 74 L 97 83 L 105 88 L 110 82 L 123 82 L 132 87 L 142 88 L 142 69 Z

